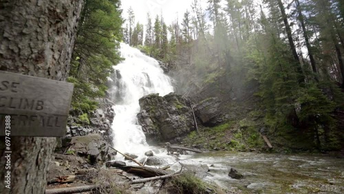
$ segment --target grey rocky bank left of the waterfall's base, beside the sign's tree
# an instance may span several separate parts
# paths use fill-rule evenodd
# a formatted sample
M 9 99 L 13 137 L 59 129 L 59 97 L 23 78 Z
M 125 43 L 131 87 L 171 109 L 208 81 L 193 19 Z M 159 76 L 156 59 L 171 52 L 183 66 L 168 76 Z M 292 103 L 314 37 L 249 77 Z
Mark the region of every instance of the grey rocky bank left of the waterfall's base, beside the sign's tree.
M 116 152 L 109 149 L 109 145 L 112 144 L 114 103 L 108 98 L 101 98 L 98 103 L 100 107 L 87 119 L 80 120 L 79 116 L 69 116 L 67 135 L 58 144 L 58 152 L 78 155 L 92 164 L 113 158 Z

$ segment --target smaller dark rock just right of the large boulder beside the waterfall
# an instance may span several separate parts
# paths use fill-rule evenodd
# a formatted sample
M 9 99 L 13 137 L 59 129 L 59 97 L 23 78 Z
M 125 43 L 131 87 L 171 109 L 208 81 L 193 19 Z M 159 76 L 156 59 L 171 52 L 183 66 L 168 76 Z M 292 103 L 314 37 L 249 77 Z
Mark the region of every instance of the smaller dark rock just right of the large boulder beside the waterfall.
M 224 122 L 221 101 L 219 98 L 206 98 L 195 107 L 195 116 L 200 119 L 202 125 L 213 127 Z

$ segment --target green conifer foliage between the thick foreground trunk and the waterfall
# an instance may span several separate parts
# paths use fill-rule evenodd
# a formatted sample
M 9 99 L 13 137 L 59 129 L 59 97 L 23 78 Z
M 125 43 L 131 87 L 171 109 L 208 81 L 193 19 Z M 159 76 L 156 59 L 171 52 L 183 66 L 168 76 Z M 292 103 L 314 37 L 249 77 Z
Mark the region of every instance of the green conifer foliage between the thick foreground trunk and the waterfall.
M 96 98 L 105 96 L 107 77 L 120 60 L 122 39 L 120 1 L 85 1 L 72 54 L 69 83 L 74 83 L 72 109 L 77 114 L 94 111 Z

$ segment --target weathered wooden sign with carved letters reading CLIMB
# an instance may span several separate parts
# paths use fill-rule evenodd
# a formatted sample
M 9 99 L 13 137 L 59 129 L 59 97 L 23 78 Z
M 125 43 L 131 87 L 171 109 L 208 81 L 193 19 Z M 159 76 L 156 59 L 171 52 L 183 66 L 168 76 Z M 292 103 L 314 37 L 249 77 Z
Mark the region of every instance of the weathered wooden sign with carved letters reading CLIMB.
M 0 136 L 65 136 L 73 84 L 0 71 Z M 10 122 L 6 121 L 10 116 Z

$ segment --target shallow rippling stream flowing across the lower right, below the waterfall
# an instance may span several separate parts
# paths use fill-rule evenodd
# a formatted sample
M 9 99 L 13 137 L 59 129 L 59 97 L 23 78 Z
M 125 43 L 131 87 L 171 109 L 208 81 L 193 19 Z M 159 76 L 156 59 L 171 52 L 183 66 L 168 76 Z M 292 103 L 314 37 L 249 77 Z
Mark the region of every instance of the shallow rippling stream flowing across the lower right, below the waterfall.
M 184 156 L 181 162 L 207 164 L 205 180 L 243 193 L 344 193 L 344 160 L 327 155 L 213 152 Z M 230 178 L 232 167 L 244 178 Z

